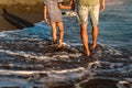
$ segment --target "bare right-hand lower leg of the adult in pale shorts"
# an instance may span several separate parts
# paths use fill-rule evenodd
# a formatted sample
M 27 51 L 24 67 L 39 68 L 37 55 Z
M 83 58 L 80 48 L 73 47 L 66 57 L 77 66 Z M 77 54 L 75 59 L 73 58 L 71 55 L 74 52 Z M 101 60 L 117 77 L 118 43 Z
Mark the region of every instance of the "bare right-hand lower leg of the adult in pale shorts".
M 99 32 L 99 29 L 98 29 L 98 25 L 94 25 L 92 26 L 92 47 L 95 48 L 97 46 L 97 38 L 98 38 L 98 32 Z

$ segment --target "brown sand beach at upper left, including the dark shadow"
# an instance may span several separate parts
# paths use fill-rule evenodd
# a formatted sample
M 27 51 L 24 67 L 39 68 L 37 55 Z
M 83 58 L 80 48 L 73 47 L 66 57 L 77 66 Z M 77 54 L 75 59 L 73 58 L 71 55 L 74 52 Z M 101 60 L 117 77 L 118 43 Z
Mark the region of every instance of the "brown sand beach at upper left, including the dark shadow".
M 43 2 L 0 4 L 0 31 L 21 30 L 43 20 Z

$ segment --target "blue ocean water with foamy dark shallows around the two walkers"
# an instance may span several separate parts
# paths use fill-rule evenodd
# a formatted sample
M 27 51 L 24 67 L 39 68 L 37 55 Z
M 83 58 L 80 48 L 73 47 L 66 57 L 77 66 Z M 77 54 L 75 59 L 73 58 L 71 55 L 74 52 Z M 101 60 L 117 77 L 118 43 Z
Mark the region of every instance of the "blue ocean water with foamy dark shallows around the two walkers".
M 85 56 L 68 47 L 82 48 L 75 16 L 64 15 L 64 43 L 68 46 L 63 52 L 48 50 L 52 46 L 46 42 L 52 40 L 52 30 L 44 21 L 26 29 L 0 32 L 0 87 L 131 88 L 131 0 L 107 2 L 106 11 L 100 13 L 99 48 L 95 55 L 99 61 L 88 68 L 82 67 Z M 90 23 L 88 34 L 91 43 Z

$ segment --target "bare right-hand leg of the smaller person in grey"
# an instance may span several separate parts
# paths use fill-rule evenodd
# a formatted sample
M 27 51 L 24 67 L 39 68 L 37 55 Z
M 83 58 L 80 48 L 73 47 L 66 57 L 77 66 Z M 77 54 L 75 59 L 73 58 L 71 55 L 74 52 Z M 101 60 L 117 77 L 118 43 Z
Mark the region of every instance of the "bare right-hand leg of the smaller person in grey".
M 58 44 L 58 47 L 62 47 L 63 46 L 63 37 L 64 37 L 63 22 L 57 22 L 57 26 L 58 26 L 58 30 L 59 30 L 59 44 Z

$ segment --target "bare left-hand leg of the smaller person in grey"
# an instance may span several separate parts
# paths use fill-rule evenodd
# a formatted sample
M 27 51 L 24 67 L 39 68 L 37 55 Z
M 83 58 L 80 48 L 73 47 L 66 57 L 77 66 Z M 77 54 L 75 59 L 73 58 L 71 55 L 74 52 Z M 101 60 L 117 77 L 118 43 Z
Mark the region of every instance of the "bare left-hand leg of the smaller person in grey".
M 52 35 L 53 35 L 53 42 L 57 42 L 57 30 L 56 30 L 56 22 L 51 22 L 52 28 Z

